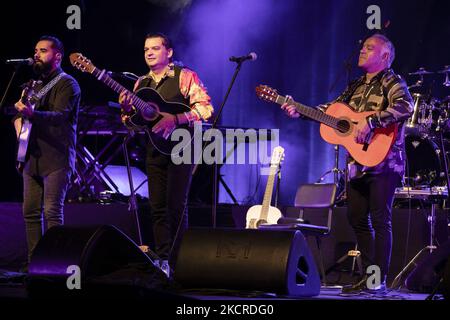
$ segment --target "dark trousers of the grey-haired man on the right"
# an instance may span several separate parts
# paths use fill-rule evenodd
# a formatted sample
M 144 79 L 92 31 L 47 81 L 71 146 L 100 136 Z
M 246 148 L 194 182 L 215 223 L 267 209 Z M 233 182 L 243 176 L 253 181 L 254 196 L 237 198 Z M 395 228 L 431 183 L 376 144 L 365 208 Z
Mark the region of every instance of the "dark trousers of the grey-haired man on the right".
M 366 175 L 348 186 L 348 219 L 365 268 L 378 265 L 386 278 L 392 252 L 392 204 L 400 175 Z

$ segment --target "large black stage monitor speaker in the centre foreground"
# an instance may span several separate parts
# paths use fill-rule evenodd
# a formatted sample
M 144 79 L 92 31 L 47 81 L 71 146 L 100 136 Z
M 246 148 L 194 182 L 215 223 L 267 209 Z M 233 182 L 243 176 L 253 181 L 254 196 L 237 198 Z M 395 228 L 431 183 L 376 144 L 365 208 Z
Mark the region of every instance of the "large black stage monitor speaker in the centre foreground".
M 320 293 L 319 273 L 300 231 L 189 229 L 175 280 L 184 288 Z

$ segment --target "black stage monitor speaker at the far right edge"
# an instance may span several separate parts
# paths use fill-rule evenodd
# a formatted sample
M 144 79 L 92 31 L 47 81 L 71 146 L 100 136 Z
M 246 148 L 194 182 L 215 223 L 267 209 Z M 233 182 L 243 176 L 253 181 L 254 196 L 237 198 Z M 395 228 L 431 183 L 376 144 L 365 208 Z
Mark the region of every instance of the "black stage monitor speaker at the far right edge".
M 411 291 L 431 293 L 443 279 L 447 261 L 450 260 L 450 240 L 438 246 L 424 257 L 406 278 L 406 287 Z

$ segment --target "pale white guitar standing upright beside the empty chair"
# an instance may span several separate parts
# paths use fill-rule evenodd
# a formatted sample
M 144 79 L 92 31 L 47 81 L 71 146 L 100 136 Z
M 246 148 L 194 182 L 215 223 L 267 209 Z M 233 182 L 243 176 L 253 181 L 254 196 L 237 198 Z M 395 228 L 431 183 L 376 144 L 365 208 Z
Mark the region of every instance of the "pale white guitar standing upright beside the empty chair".
M 275 175 L 284 159 L 283 147 L 273 149 L 272 159 L 270 161 L 270 172 L 267 178 L 266 191 L 264 192 L 264 200 L 262 205 L 256 205 L 247 211 L 247 229 L 257 229 L 261 224 L 276 224 L 278 219 L 282 217 L 281 211 L 270 205 L 272 200 L 273 185 Z

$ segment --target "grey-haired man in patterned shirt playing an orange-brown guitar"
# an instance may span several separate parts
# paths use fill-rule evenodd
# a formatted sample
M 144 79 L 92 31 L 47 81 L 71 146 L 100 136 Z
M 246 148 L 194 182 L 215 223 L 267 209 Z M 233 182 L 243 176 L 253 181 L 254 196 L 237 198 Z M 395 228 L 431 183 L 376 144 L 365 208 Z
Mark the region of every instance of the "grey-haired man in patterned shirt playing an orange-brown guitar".
M 392 204 L 395 188 L 401 184 L 405 170 L 404 123 L 413 111 L 413 100 L 406 83 L 390 66 L 395 57 L 392 42 L 381 34 L 374 34 L 360 50 L 358 66 L 365 75 L 351 82 L 334 102 L 347 103 L 356 112 L 375 111 L 356 124 L 357 143 L 369 142 L 371 132 L 395 124 L 397 136 L 386 158 L 378 165 L 367 167 L 349 159 L 348 217 L 352 225 L 358 249 L 362 253 L 365 268 L 377 265 L 381 271 L 381 283 L 367 288 L 367 277 L 343 288 L 343 293 L 386 290 L 386 275 L 392 251 Z M 325 111 L 331 105 L 321 105 Z M 294 105 L 284 103 L 282 109 L 292 117 L 300 114 Z

